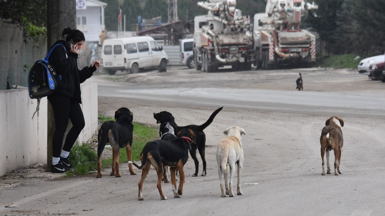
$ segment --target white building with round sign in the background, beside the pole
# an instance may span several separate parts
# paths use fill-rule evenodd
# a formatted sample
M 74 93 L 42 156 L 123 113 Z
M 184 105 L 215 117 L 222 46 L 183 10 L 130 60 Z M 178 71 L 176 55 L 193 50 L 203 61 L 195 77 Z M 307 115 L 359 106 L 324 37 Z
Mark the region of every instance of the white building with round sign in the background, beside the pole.
M 97 0 L 76 0 L 76 28 L 84 33 L 86 42 L 100 43 L 106 6 Z

